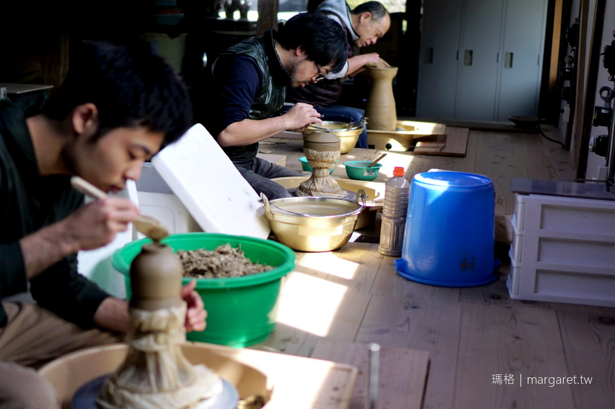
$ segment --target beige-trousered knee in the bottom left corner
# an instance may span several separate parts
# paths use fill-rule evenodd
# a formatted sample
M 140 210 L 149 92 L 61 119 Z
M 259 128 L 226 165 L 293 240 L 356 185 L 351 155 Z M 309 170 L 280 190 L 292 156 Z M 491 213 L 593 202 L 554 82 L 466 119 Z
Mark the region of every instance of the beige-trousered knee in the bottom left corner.
M 1 409 L 59 409 L 54 387 L 31 368 L 0 362 Z

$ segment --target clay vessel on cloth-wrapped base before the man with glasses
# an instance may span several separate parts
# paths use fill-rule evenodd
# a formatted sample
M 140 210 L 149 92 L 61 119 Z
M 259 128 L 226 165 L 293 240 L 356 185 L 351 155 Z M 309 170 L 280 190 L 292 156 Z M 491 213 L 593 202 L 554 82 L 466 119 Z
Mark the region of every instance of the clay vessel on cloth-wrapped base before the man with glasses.
M 298 196 L 346 197 L 346 192 L 329 173 L 339 159 L 339 149 L 339 138 L 331 132 L 316 131 L 303 139 L 303 153 L 312 166 L 312 176 L 299 185 Z

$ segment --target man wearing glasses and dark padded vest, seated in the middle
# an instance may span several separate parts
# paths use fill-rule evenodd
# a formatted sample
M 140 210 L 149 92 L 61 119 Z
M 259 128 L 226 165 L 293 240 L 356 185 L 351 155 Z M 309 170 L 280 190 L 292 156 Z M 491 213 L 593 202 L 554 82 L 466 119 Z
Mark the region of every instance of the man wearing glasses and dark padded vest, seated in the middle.
M 287 87 L 304 87 L 339 71 L 346 56 L 343 28 L 319 12 L 303 13 L 290 18 L 279 33 L 269 30 L 230 47 L 205 69 L 208 78 L 193 88 L 197 122 L 210 131 L 259 195 L 290 197 L 269 179 L 301 174 L 257 158 L 258 142 L 322 122 L 306 103 L 279 115 Z

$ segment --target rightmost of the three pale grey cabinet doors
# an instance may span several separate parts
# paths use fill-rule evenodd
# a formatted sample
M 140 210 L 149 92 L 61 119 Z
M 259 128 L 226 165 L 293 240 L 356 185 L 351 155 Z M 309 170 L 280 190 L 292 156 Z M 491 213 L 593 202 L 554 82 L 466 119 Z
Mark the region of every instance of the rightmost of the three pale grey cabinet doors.
M 507 0 L 500 55 L 498 121 L 537 116 L 547 0 Z

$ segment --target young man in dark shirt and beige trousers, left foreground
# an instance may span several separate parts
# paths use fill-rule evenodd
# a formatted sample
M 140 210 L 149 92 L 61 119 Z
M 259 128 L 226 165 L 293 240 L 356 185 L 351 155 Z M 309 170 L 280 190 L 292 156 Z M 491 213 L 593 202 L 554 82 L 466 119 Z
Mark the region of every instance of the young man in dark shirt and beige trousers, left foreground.
M 148 44 L 86 42 L 74 55 L 40 114 L 26 118 L 22 107 L 0 104 L 0 296 L 30 282 L 37 302 L 0 305 L 0 408 L 59 408 L 50 385 L 26 366 L 130 330 L 127 302 L 79 275 L 76 253 L 112 241 L 138 209 L 125 198 L 83 206 L 70 177 L 122 190 L 191 123 L 185 87 Z M 194 284 L 182 290 L 186 330 L 203 330 Z

